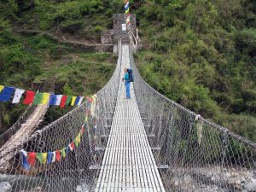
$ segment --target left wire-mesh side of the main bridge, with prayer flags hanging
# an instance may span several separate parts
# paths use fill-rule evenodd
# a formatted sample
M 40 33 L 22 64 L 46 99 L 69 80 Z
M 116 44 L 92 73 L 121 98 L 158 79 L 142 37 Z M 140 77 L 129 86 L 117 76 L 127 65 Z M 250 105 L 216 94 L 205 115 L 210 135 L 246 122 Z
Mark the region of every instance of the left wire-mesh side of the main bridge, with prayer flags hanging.
M 119 43 L 119 49 L 120 46 Z M 15 192 L 93 189 L 98 171 L 90 169 L 90 166 L 99 165 L 102 161 L 103 154 L 96 147 L 107 142 L 102 135 L 109 133 L 119 74 L 120 56 L 113 77 L 95 96 L 43 130 L 26 137 L 23 143 L 16 143 L 15 151 L 9 153 L 13 158 L 0 170 L 1 187 Z M 28 160 L 28 156 L 33 157 L 32 152 L 37 153 L 36 158 Z M 49 152 L 55 152 L 51 160 Z M 27 155 L 25 159 L 23 154 Z M 4 159 L 1 152 L 0 159 Z M 33 160 L 34 165 L 31 166 Z

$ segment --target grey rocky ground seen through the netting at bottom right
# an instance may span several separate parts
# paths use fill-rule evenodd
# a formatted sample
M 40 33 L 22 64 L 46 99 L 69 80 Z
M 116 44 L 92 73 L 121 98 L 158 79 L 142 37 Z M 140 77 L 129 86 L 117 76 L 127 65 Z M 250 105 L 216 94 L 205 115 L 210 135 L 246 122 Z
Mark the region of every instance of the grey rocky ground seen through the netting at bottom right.
M 172 185 L 177 191 L 193 192 L 256 192 L 256 170 L 233 167 L 211 166 L 179 170 L 178 177 L 172 177 Z M 183 172 L 183 173 L 182 173 Z

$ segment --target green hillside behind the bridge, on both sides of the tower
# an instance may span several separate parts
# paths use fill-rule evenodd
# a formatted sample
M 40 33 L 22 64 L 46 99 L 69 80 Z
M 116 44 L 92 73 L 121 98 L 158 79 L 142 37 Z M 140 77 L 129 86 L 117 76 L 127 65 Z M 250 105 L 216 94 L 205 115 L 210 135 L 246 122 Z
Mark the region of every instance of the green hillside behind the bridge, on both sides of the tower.
M 172 100 L 256 141 L 256 2 L 133 2 L 131 12 L 137 14 L 143 39 L 143 51 L 135 55 L 143 78 Z M 0 84 L 29 88 L 40 78 L 59 74 L 60 92 L 85 94 L 100 89 L 93 82 L 101 74 L 108 74 L 101 84 L 108 81 L 114 58 L 84 55 L 49 38 L 20 36 L 15 29 L 42 30 L 95 43 L 102 31 L 112 27 L 112 14 L 121 13 L 122 4 L 117 0 L 0 3 Z M 89 65 L 93 62 L 98 65 Z M 62 63 L 71 63 L 70 68 Z M 88 73 L 79 73 L 79 63 L 84 63 Z M 98 73 L 92 66 L 99 67 Z M 91 85 L 79 82 L 88 75 L 95 78 L 86 81 Z M 11 125 L 17 110 L 0 122 Z

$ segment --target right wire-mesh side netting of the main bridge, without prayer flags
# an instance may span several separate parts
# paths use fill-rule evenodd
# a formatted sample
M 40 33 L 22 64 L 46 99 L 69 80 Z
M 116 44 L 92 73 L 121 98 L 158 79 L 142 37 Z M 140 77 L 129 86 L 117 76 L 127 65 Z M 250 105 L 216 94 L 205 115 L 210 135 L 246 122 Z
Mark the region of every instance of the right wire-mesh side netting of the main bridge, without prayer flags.
M 241 191 L 255 187 L 256 144 L 183 108 L 137 72 L 134 88 L 166 191 Z

